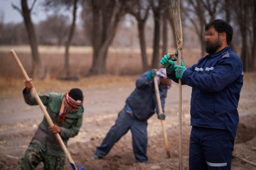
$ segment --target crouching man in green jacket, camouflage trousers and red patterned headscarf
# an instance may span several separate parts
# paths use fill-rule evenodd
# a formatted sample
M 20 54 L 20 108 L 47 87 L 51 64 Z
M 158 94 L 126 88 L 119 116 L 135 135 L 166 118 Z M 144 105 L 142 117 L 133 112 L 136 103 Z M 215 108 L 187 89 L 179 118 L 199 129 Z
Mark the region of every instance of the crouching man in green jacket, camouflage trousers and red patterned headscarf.
M 31 93 L 32 79 L 25 81 L 25 85 L 26 89 L 23 90 L 25 102 L 31 106 L 38 105 Z M 82 113 L 84 111 L 82 91 L 70 89 L 65 94 L 39 94 L 39 97 L 55 125 L 50 127 L 46 117 L 43 117 L 28 145 L 25 156 L 18 162 L 16 169 L 36 169 L 40 162 L 43 162 L 45 170 L 64 169 L 65 153 L 54 134 L 60 134 L 66 147 L 69 138 L 78 135 L 82 126 Z

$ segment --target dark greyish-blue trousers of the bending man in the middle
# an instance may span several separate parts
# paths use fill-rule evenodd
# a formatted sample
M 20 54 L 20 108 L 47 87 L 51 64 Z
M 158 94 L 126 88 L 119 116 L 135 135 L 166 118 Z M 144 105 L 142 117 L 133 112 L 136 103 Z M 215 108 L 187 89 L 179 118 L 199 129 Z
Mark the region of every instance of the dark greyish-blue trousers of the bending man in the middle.
M 137 118 L 129 113 L 126 107 L 119 112 L 115 124 L 107 132 L 105 139 L 102 141 L 100 147 L 97 147 L 95 154 L 98 157 L 105 157 L 110 149 L 114 146 L 128 130 L 132 132 L 132 146 L 134 156 L 137 162 L 147 162 L 146 147 L 147 147 L 147 122 L 139 121 Z

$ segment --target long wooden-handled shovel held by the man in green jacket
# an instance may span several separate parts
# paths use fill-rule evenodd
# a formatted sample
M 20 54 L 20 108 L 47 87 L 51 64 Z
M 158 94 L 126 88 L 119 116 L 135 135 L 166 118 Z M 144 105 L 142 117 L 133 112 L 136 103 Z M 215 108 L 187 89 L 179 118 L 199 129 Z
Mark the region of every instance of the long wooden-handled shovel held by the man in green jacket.
M 26 70 L 24 69 L 23 65 L 21 64 L 21 61 L 18 59 L 18 56 L 16 55 L 16 52 L 14 50 L 11 50 L 11 55 L 13 55 L 14 59 L 16 60 L 18 67 L 21 69 L 21 72 L 23 74 L 23 76 L 25 77 L 25 79 L 27 81 L 29 81 L 29 77 L 28 74 L 26 73 Z M 43 111 L 44 116 L 46 117 L 46 120 L 48 121 L 50 126 L 53 126 L 53 120 L 51 120 L 49 113 L 46 111 L 45 106 L 43 105 L 43 102 L 41 101 L 41 98 L 39 98 L 38 94 L 36 93 L 36 89 L 33 87 L 31 89 L 33 96 L 36 98 L 36 101 L 38 102 L 38 105 L 40 106 L 41 110 Z M 75 166 L 75 162 L 73 161 L 70 153 L 68 152 L 67 147 L 65 147 L 65 144 L 63 142 L 63 140 L 60 137 L 59 133 L 55 133 L 54 134 L 55 137 L 57 138 L 58 142 L 60 143 L 60 147 L 63 149 L 63 152 L 65 153 L 65 155 L 68 157 L 68 161 L 70 162 L 70 165 L 72 166 L 72 168 L 74 170 L 84 170 L 84 167 L 82 166 L 80 169 L 77 169 L 77 167 Z

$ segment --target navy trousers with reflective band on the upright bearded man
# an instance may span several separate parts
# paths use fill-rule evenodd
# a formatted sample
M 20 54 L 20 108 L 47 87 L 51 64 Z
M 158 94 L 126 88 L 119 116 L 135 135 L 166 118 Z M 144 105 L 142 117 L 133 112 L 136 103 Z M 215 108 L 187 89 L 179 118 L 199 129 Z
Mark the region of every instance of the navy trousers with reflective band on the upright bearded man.
M 189 169 L 231 169 L 235 132 L 192 127 L 189 143 Z

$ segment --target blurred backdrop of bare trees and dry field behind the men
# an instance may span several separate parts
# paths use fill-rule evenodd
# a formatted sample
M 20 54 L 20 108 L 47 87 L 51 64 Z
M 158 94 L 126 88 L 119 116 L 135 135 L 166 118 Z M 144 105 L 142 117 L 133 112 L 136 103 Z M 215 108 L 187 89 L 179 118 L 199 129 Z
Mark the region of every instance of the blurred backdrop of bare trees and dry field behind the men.
M 19 79 L 14 49 L 37 79 L 141 74 L 176 52 L 170 0 L 0 0 L 0 72 Z M 175 16 L 176 17 L 176 16 Z M 204 27 L 216 18 L 234 28 L 231 47 L 244 72 L 255 72 L 256 1 L 181 1 L 186 66 L 204 50 Z M 11 67 L 15 66 L 15 67 Z

